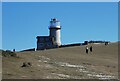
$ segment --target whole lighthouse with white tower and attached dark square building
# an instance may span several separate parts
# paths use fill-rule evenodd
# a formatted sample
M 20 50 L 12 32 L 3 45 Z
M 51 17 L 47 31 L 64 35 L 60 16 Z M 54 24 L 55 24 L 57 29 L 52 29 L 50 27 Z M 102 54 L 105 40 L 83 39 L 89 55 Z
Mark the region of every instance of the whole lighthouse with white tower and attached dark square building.
M 37 36 L 37 50 L 57 48 L 61 46 L 60 21 L 56 18 L 50 20 L 49 36 Z

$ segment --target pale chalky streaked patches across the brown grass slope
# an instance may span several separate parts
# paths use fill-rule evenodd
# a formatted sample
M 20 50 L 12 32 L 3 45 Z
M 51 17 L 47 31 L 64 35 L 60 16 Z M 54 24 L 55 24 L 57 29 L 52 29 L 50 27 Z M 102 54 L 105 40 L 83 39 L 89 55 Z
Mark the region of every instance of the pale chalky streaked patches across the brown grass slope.
M 46 63 L 46 68 L 54 68 L 54 67 L 61 67 L 61 68 L 68 68 L 69 70 L 74 70 L 74 72 L 79 72 L 80 74 L 83 74 L 84 76 L 87 77 L 87 79 L 117 79 L 116 76 L 114 75 L 108 75 L 104 73 L 98 73 L 95 70 L 90 70 L 88 67 L 85 67 L 83 65 L 75 65 L 75 64 L 70 64 L 66 62 L 56 62 L 53 61 L 52 59 L 45 57 L 45 56 L 39 56 L 38 62 L 44 62 Z M 41 65 L 37 65 L 41 66 Z M 46 76 L 46 78 L 70 78 L 70 79 L 83 79 L 84 77 L 80 76 L 71 76 L 68 73 L 63 74 L 63 73 L 51 73 L 50 75 Z

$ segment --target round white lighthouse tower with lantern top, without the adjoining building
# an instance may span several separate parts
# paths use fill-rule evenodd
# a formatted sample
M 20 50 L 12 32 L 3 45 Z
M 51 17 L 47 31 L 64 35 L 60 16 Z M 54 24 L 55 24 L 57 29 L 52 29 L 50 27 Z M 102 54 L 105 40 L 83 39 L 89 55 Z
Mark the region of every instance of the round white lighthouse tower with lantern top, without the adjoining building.
M 60 46 L 61 41 L 60 41 L 60 21 L 58 21 L 56 18 L 51 19 L 50 21 L 50 37 L 52 38 L 52 41 L 54 42 L 54 45 Z

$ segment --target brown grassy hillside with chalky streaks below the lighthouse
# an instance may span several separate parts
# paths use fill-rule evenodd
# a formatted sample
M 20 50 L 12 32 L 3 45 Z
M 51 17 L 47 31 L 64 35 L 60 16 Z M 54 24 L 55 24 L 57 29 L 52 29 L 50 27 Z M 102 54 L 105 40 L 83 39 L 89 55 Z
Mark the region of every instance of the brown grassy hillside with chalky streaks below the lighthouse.
M 3 57 L 3 79 L 117 79 L 118 43 L 91 44 L 43 51 L 16 52 Z M 91 45 L 88 45 L 89 47 Z M 21 67 L 23 62 L 31 66 Z

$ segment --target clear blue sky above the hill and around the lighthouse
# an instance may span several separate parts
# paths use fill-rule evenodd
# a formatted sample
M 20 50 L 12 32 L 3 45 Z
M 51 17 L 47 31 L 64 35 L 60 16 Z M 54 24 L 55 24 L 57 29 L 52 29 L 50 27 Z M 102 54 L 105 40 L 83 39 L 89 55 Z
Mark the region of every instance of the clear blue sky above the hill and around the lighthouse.
M 117 2 L 3 2 L 2 49 L 36 48 L 51 18 L 61 22 L 62 44 L 118 41 Z

